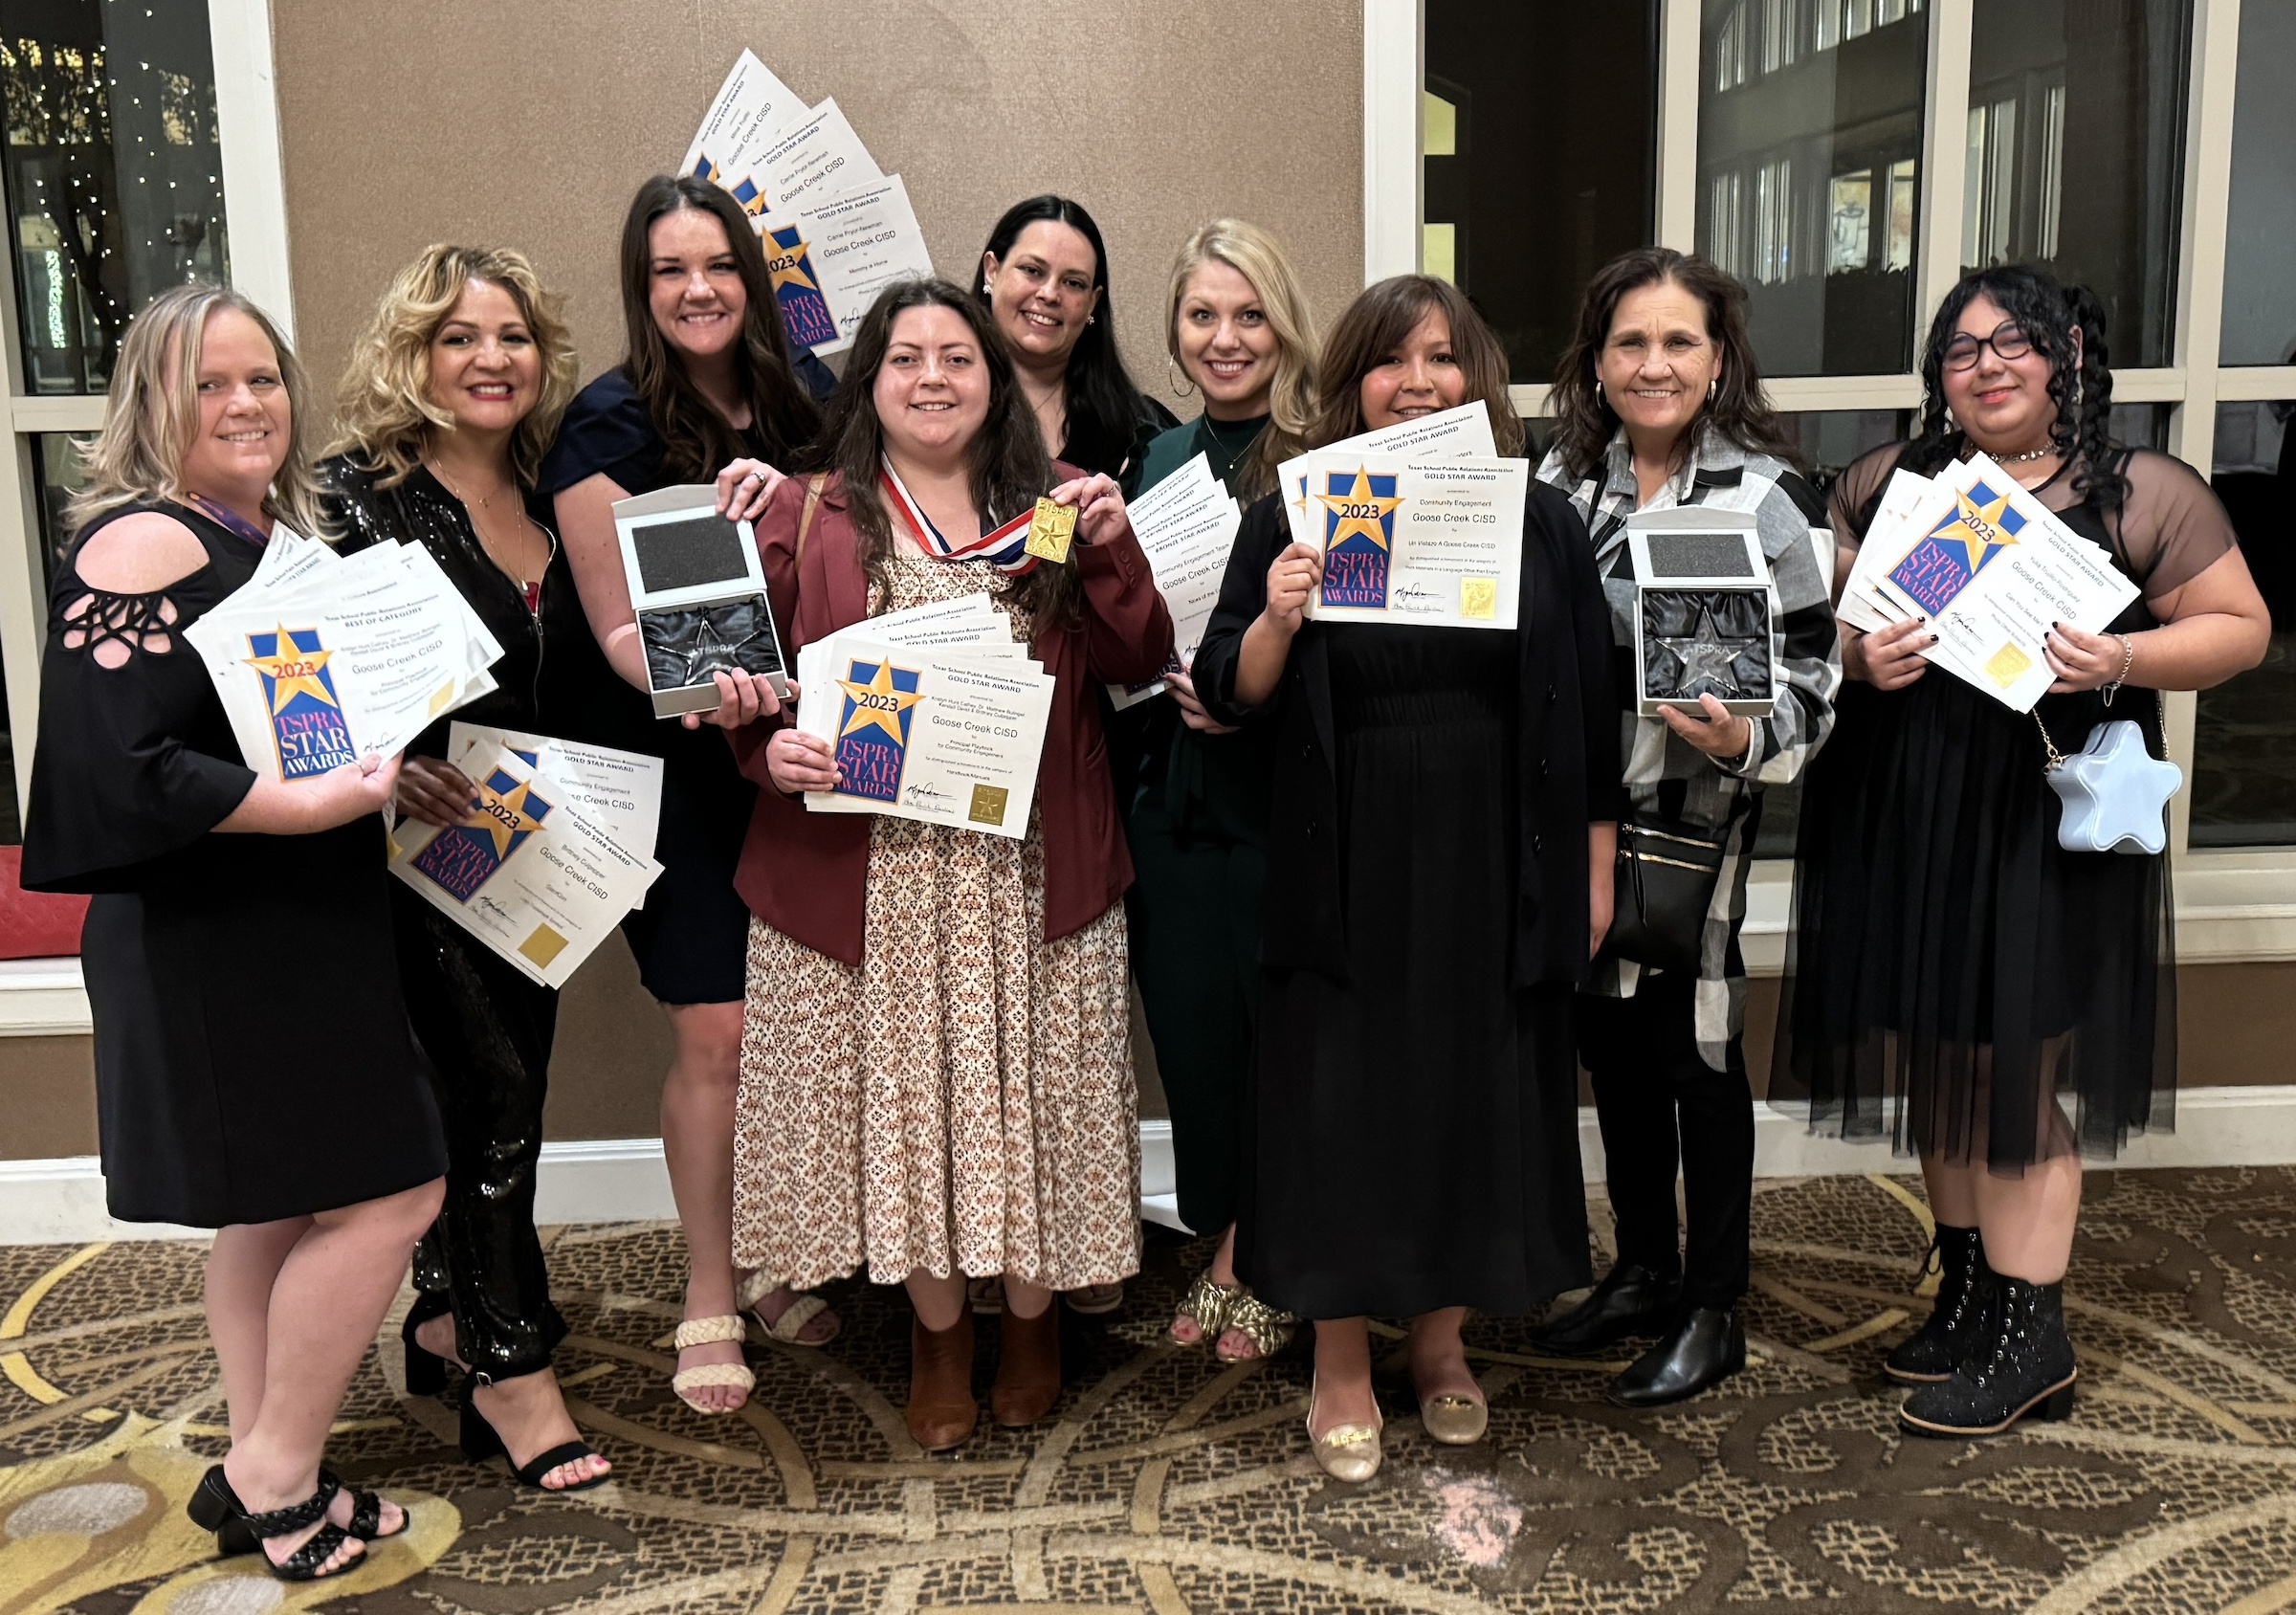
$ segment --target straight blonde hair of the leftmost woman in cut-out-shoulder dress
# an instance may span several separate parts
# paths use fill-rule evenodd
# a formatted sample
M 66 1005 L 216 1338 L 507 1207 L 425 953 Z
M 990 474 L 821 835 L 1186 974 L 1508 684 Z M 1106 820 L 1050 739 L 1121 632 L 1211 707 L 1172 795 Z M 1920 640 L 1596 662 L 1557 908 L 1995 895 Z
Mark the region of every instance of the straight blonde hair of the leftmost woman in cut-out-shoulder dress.
M 184 455 L 200 430 L 200 351 L 207 322 L 225 308 L 246 315 L 264 333 L 278 358 L 280 386 L 287 388 L 287 459 L 271 478 L 264 510 L 296 533 L 328 533 L 312 469 L 303 365 L 253 299 L 204 280 L 168 287 L 129 324 L 119 363 L 113 365 L 103 432 L 80 450 L 87 482 L 64 505 L 64 521 L 73 533 L 122 505 L 184 499 Z

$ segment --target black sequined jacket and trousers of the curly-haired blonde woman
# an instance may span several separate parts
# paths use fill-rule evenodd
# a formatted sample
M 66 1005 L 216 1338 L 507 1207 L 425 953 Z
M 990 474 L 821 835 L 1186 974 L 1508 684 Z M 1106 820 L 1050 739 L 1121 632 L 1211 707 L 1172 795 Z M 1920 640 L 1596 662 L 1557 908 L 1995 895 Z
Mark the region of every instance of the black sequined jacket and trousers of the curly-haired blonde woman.
M 351 459 L 321 466 L 342 549 L 422 544 L 503 646 L 496 687 L 422 731 L 406 756 L 445 758 L 452 721 L 602 740 L 613 669 L 590 636 L 574 572 L 551 540 L 533 600 L 494 565 L 461 501 L 427 466 L 386 487 Z M 544 501 L 528 517 L 553 531 Z M 452 1307 L 457 1353 L 489 1378 L 549 1367 L 567 1326 L 535 1236 L 535 1167 L 558 992 L 512 969 L 402 880 L 390 882 L 400 983 L 445 1116 L 445 1206 L 416 1252 L 422 1316 Z

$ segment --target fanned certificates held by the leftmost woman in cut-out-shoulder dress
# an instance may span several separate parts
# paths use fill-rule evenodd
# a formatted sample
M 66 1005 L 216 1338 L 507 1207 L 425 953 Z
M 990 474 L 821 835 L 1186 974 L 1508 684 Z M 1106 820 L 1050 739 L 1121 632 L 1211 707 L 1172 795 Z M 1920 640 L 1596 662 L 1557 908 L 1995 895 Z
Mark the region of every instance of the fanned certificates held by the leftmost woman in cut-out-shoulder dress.
M 248 767 L 280 781 L 400 751 L 494 689 L 487 669 L 503 655 L 422 544 L 338 556 L 287 528 L 184 639 Z

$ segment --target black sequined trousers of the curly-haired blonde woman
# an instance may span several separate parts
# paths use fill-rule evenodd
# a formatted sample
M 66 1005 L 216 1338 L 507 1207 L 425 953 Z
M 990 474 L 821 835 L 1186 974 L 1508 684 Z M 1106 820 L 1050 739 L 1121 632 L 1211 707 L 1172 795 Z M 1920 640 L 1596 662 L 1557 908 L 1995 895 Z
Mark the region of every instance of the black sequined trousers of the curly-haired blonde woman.
M 445 1121 L 445 1206 L 416 1252 L 416 1286 L 445 1291 L 480 1376 L 551 1365 L 567 1326 L 535 1238 L 535 1167 L 558 995 L 390 882 L 400 986 Z

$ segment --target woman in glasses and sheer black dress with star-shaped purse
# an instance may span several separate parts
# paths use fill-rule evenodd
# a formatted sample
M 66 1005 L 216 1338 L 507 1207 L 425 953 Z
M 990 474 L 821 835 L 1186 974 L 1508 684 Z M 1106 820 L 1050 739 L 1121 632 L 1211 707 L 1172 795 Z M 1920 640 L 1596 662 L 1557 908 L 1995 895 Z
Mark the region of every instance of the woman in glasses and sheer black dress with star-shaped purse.
M 1802 799 L 1770 1096 L 1919 1151 L 1942 1277 L 1887 1371 L 1919 1385 L 1906 1429 L 1988 1436 L 2071 1411 L 2060 1284 L 2080 1158 L 2167 1128 L 2177 1087 L 2167 857 L 2064 850 L 2050 751 L 2133 719 L 2163 756 L 2149 691 L 2255 666 L 2268 627 L 2209 485 L 2110 441 L 2094 296 L 2037 269 L 1972 271 L 1929 329 L 1922 379 L 1919 434 L 1835 482 L 1837 572 L 1894 469 L 1984 450 L 2142 590 L 2103 634 L 2050 634 L 2057 682 L 2032 714 L 1931 669 L 1922 620 L 1844 627 L 1853 682 Z

